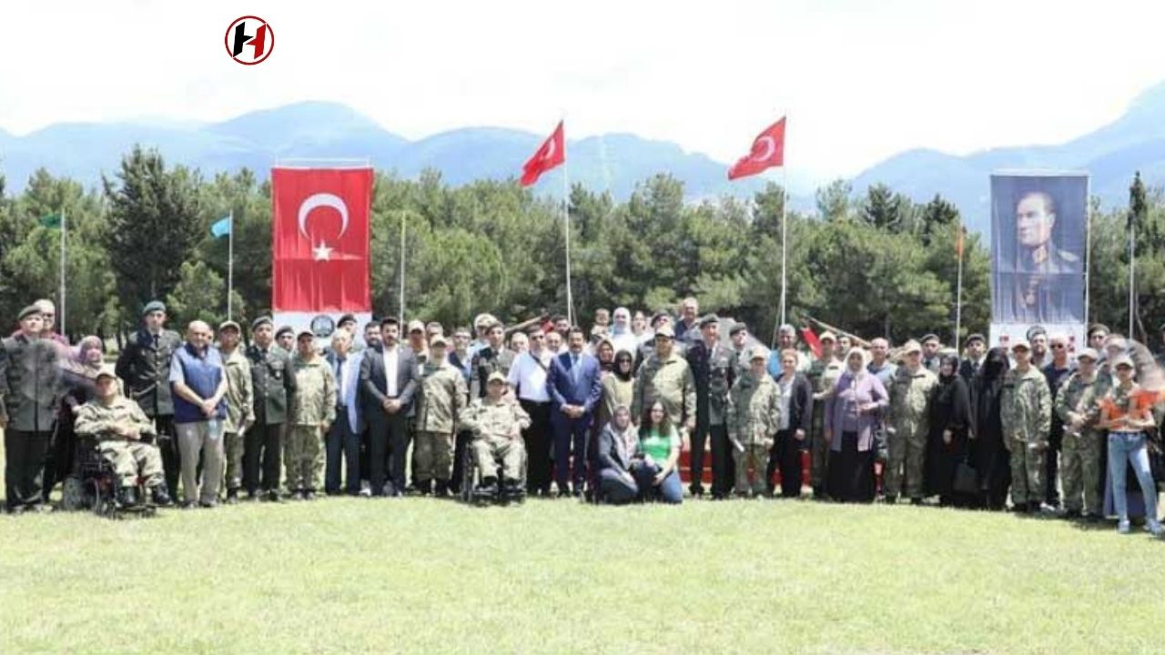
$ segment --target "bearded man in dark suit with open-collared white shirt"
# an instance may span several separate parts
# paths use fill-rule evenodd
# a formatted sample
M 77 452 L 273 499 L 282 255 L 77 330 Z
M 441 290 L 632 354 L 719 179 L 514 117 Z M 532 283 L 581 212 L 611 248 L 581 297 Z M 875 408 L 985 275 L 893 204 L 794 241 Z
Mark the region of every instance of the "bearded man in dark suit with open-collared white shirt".
M 417 388 L 417 362 L 411 351 L 400 346 L 401 324 L 396 318 L 381 321 L 380 332 L 381 344 L 367 348 L 360 361 L 361 403 L 368 422 L 372 493 L 396 498 L 404 495 L 405 416 Z

